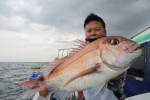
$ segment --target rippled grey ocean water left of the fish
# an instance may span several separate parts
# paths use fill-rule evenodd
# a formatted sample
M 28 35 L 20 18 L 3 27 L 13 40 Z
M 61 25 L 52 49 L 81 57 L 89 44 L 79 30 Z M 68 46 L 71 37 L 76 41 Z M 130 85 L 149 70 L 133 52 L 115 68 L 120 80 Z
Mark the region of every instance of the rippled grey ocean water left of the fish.
M 0 100 L 23 100 L 28 88 L 21 82 L 34 72 L 43 72 L 48 62 L 0 62 Z M 40 67 L 40 69 L 32 69 Z M 32 97 L 26 100 L 32 100 Z

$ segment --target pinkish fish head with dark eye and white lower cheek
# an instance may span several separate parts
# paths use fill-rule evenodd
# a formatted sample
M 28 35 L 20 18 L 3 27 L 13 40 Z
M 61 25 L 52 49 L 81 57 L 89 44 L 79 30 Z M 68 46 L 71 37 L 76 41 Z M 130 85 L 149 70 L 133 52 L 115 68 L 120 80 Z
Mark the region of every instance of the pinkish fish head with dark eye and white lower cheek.
M 136 42 L 121 37 L 108 36 L 99 39 L 99 50 L 102 61 L 111 67 L 119 69 L 129 68 L 130 65 L 138 58 L 142 50 Z

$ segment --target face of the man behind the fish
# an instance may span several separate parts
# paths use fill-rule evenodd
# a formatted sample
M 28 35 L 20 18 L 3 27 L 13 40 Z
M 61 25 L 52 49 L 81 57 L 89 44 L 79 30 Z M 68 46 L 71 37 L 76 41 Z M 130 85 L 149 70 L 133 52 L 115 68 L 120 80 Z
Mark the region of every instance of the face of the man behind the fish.
M 91 21 L 86 24 L 84 31 L 86 39 L 96 39 L 106 36 L 106 30 L 98 21 Z

